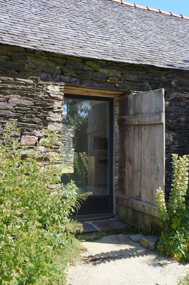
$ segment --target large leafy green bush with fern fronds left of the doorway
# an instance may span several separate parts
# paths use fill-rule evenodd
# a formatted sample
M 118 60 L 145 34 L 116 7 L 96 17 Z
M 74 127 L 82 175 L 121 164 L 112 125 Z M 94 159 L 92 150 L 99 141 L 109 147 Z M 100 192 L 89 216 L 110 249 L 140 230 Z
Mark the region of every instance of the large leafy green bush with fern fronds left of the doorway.
M 0 284 L 64 284 L 66 264 L 78 254 L 73 233 L 82 231 L 68 216 L 87 194 L 78 201 L 73 182 L 53 189 L 60 174 L 49 152 L 56 133 L 43 131 L 46 156 L 39 162 L 13 131 L 7 123 L 0 142 Z

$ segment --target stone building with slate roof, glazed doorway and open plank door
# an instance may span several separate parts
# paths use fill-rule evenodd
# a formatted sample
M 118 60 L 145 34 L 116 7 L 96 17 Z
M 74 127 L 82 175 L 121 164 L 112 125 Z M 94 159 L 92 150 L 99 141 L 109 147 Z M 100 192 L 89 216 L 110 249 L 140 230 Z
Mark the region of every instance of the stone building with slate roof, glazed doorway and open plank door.
M 63 137 L 67 104 L 77 133 L 70 175 L 94 194 L 81 219 L 118 213 L 156 227 L 171 154 L 189 154 L 189 18 L 122 0 L 4 0 L 0 9 L 2 127 L 17 122 L 32 148 L 44 128 Z

